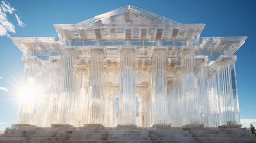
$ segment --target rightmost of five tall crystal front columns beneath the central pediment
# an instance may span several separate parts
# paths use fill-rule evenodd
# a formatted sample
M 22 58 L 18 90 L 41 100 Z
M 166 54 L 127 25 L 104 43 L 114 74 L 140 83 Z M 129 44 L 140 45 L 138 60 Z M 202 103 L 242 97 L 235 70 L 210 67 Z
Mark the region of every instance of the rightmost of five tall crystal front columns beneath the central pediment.
M 195 50 L 191 48 L 184 49 L 181 60 L 185 74 L 184 93 L 188 105 L 189 123 L 198 124 L 200 123 L 200 114 L 197 96 L 198 82 L 195 72 Z

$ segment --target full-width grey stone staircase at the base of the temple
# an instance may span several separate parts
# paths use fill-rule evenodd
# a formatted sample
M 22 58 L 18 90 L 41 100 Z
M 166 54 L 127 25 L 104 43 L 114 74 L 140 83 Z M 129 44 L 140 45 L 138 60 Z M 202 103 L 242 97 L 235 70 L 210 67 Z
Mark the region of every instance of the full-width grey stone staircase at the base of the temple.
M 256 143 L 245 128 L 6 128 L 0 143 Z

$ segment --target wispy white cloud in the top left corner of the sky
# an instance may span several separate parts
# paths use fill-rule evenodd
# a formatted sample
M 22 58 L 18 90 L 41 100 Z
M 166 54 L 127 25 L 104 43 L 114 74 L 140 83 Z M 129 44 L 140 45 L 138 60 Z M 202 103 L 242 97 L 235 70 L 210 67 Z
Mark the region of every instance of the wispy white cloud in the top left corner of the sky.
M 7 13 L 13 14 L 14 11 L 17 11 L 16 9 L 14 9 L 13 7 L 11 7 L 11 5 L 7 2 L 7 1 L 1 1 L 0 3 L 0 36 L 10 36 L 9 33 L 15 33 L 15 26 L 8 20 L 7 18 Z M 21 27 L 26 26 L 26 24 L 24 24 L 20 18 L 18 17 L 18 15 L 16 13 L 14 13 L 17 21 L 18 21 L 18 25 Z

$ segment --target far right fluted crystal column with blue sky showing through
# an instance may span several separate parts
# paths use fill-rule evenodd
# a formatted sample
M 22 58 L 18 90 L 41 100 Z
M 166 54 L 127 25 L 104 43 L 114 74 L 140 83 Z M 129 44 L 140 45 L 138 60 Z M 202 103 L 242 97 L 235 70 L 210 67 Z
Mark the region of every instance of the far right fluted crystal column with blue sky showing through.
M 220 98 L 221 124 L 240 124 L 234 63 L 222 65 L 218 70 L 218 90 Z

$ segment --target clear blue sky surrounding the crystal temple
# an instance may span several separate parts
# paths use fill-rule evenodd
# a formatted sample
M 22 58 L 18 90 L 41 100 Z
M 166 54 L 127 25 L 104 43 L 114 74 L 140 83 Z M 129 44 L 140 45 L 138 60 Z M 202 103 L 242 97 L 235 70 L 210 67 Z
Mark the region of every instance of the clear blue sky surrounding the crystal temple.
M 235 53 L 236 77 L 241 123 L 256 125 L 256 3 L 253 0 L 1 0 L 0 130 L 17 121 L 14 79 L 22 79 L 24 66 L 22 52 L 9 36 L 57 37 L 53 24 L 78 23 L 127 4 L 180 23 L 204 23 L 201 37 L 248 36 Z

